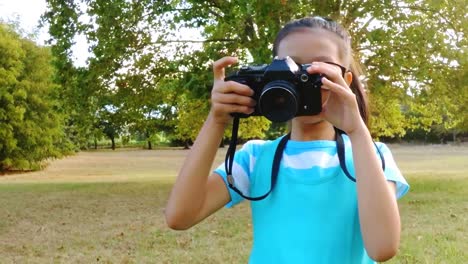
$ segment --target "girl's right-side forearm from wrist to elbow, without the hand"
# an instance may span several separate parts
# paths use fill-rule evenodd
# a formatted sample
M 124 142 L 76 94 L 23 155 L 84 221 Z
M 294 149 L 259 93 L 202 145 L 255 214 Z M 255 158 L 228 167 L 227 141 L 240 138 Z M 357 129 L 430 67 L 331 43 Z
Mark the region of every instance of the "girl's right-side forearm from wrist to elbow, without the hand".
M 386 261 L 400 243 L 400 214 L 396 186 L 388 182 L 365 125 L 348 134 L 353 146 L 358 210 L 364 245 L 370 257 Z

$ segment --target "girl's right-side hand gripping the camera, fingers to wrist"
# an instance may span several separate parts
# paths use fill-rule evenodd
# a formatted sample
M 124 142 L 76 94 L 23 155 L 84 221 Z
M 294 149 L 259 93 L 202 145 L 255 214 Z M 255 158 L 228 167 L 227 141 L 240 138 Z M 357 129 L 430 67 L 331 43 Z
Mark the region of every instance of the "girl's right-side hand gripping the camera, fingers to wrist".
M 325 97 L 322 98 L 322 102 L 323 99 L 325 101 L 322 103 L 320 116 L 348 135 L 365 127 L 359 113 L 356 95 L 349 88 L 338 66 L 325 62 L 313 62 L 307 68 L 307 72 L 326 76 L 322 78 L 322 90 L 326 92 L 322 92 L 322 97 Z M 349 83 L 351 83 L 352 77 L 350 72 L 345 74 Z

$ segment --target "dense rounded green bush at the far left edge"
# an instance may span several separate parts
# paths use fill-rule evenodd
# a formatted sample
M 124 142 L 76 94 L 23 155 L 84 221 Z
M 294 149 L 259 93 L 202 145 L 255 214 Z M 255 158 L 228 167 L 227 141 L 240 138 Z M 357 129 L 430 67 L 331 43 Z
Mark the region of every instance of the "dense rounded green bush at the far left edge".
M 0 170 L 36 169 L 63 149 L 49 49 L 0 24 Z

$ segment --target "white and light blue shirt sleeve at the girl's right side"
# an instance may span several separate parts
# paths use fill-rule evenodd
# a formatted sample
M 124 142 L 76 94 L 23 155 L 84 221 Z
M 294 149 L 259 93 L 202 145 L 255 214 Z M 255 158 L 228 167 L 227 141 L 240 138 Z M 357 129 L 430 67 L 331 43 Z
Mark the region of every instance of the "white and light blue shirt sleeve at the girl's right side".
M 400 172 L 400 169 L 396 165 L 395 159 L 388 148 L 388 146 L 384 143 L 378 142 L 376 143 L 378 150 L 382 154 L 385 162 L 385 177 L 388 181 L 395 182 L 396 184 L 396 197 L 397 199 L 403 197 L 409 190 L 409 184 L 403 177 Z M 380 157 L 380 155 L 379 155 Z

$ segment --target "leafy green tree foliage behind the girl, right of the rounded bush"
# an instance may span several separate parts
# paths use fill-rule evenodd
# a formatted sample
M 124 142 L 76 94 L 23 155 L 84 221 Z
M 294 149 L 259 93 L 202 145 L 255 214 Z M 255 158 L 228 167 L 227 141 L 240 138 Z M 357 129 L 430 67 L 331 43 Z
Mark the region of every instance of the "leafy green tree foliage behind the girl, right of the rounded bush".
M 375 137 L 408 131 L 468 132 L 464 1 L 194 1 L 49 0 L 52 52 L 66 116 L 65 134 L 83 148 L 112 105 L 115 131 L 151 138 L 166 132 L 192 141 L 209 111 L 211 64 L 235 55 L 269 63 L 272 42 L 288 21 L 328 16 L 349 29 L 371 102 Z M 193 40 L 184 32 L 199 32 Z M 77 69 L 74 37 L 92 56 Z M 105 120 L 104 120 L 105 121 Z M 243 120 L 240 137 L 284 131 L 263 118 Z M 101 131 L 102 132 L 102 131 Z M 226 131 L 226 137 L 230 132 Z

